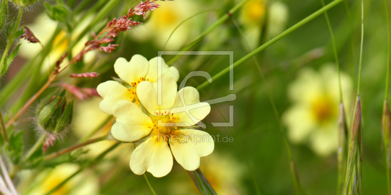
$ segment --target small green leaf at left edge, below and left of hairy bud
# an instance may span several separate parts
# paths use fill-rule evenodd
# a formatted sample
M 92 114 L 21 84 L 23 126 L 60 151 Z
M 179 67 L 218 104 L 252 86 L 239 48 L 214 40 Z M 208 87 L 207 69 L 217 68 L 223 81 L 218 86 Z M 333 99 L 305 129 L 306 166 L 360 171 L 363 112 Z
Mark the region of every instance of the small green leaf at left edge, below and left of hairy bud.
M 18 133 L 12 133 L 9 137 L 9 148 L 8 155 L 11 161 L 16 164 L 20 160 L 20 156 L 22 156 L 23 152 L 23 131 L 19 131 Z

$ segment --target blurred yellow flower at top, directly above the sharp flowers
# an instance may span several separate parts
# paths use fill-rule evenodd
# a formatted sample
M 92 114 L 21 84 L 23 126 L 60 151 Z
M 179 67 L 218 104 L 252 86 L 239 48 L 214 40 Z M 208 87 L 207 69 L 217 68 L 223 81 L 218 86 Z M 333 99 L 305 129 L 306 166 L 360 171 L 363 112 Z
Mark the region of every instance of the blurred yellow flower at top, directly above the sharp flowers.
M 159 9 L 151 12 L 147 22 L 140 27 L 133 28 L 128 35 L 136 41 L 149 41 L 160 49 L 163 48 L 172 31 L 184 20 L 200 12 L 197 1 L 180 0 L 173 2 L 158 2 Z M 197 16 L 199 17 L 199 16 Z M 179 50 L 187 41 L 198 35 L 196 28 L 199 20 L 188 20 L 183 23 L 165 46 L 165 50 Z

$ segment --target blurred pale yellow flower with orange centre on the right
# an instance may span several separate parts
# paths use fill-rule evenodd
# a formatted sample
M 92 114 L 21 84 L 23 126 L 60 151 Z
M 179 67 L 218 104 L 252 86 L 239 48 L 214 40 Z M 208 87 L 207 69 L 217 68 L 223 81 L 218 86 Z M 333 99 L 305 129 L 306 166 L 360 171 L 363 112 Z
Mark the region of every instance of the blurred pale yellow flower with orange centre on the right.
M 288 88 L 293 105 L 282 116 L 288 136 L 294 143 L 309 141 L 319 155 L 335 152 L 338 143 L 339 87 L 334 66 L 327 64 L 319 73 L 304 69 Z M 343 100 L 350 105 L 352 80 L 341 73 Z

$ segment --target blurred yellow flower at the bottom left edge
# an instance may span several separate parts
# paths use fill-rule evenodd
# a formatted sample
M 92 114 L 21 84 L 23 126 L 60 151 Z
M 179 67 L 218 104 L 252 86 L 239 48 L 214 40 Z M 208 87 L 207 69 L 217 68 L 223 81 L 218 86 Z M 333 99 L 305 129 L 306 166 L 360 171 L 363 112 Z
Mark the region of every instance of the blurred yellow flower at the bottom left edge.
M 79 170 L 79 165 L 65 163 L 55 168 L 47 169 L 38 175 L 29 171 L 23 172 L 22 185 L 29 183 L 31 190 L 23 193 L 25 195 L 43 195 L 55 188 L 69 176 Z M 29 189 L 29 188 L 24 188 Z M 99 195 L 99 178 L 90 170 L 84 170 L 70 179 L 61 188 L 54 191 L 52 195 Z

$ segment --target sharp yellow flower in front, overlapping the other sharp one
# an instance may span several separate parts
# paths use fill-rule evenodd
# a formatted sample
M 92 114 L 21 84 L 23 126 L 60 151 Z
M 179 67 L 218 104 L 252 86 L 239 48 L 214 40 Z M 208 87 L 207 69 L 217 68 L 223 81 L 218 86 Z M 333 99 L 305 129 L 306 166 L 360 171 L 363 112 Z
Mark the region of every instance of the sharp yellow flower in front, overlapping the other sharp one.
M 140 55 L 133 58 L 142 59 Z M 122 73 L 122 76 L 132 78 L 131 75 L 135 74 L 126 73 Z M 172 168 L 172 156 L 186 170 L 195 170 L 200 165 L 200 157 L 209 155 L 214 149 L 213 138 L 208 133 L 196 129 L 178 129 L 178 126 L 189 127 L 204 119 L 210 112 L 210 105 L 200 103 L 199 93 L 194 87 L 185 87 L 177 92 L 176 78 L 163 74 L 160 79 L 161 105 L 158 105 L 157 82 L 142 81 L 136 86 L 138 99 L 146 109 L 145 112 L 149 112 L 150 115 L 140 109 L 138 101 L 136 105 L 129 100 L 117 102 L 114 99 L 117 103 L 112 110 L 116 118 L 116 123 L 111 128 L 113 137 L 123 142 L 134 142 L 149 135 L 136 147 L 130 158 L 130 168 L 138 175 L 145 171 L 155 177 L 167 175 Z M 100 92 L 103 90 L 101 88 Z M 191 110 L 185 109 L 190 112 L 195 121 L 183 112 L 181 95 L 187 106 L 191 107 L 195 104 L 200 106 L 192 107 Z

